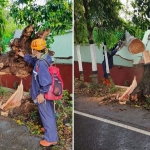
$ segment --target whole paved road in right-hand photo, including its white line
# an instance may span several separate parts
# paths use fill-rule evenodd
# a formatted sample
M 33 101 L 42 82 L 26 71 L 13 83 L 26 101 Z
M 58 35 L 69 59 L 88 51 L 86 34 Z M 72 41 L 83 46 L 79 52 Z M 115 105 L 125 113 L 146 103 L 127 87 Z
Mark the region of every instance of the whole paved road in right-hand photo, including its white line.
M 75 95 L 74 108 L 77 112 L 114 121 L 136 130 L 75 113 L 75 150 L 150 150 L 150 111 L 118 103 L 99 106 L 99 101 L 98 98 Z M 138 129 L 143 132 L 138 132 Z

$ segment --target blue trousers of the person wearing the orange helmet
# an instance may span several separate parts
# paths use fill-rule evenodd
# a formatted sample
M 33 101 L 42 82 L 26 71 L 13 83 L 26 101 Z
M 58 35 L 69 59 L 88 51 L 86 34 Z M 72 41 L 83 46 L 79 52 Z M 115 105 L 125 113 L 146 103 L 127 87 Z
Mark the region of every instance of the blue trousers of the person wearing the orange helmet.
M 56 119 L 52 101 L 46 100 L 38 104 L 38 110 L 45 129 L 44 139 L 48 142 L 57 142 L 58 134 L 56 129 Z

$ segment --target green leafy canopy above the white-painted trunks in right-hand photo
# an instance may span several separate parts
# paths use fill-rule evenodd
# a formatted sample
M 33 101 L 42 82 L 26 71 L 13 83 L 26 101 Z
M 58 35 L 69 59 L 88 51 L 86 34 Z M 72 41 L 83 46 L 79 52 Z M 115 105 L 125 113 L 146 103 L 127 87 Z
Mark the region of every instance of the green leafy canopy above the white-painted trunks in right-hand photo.
M 111 42 L 110 34 L 115 29 L 121 29 L 124 24 L 119 17 L 122 4 L 118 0 L 75 0 L 75 39 L 81 39 L 88 34 L 88 40 L 94 40 L 98 45 L 107 41 Z M 81 36 L 83 34 L 83 36 Z M 109 38 L 108 38 L 109 37 Z M 114 39 L 114 36 L 112 37 Z M 115 41 L 116 42 L 116 41 Z

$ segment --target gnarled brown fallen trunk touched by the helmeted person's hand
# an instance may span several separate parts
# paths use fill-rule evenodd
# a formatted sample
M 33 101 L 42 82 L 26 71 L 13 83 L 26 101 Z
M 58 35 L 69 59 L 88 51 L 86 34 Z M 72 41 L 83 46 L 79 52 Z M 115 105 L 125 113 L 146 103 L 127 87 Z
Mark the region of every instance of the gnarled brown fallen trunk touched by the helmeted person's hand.
M 24 61 L 24 59 L 18 55 L 19 51 L 23 51 L 24 54 L 32 54 L 31 42 L 34 39 L 42 38 L 46 39 L 46 36 L 50 33 L 50 29 L 37 32 L 35 34 L 33 25 L 27 26 L 20 38 L 15 38 L 9 43 L 10 51 L 7 53 L 1 53 L 0 55 L 0 75 L 13 74 L 20 78 L 25 78 L 32 73 L 33 66 Z M 48 48 L 48 53 L 53 56 L 54 52 Z

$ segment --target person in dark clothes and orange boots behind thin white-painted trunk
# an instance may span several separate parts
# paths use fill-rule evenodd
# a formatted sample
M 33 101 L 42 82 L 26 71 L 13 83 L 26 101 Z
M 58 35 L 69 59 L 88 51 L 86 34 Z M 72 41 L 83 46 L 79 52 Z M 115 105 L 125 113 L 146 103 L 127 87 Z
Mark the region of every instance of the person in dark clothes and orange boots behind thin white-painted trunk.
M 108 58 L 108 65 L 109 69 L 113 68 L 113 56 L 116 54 L 118 50 L 120 50 L 124 46 L 124 43 L 122 41 L 119 41 L 113 48 L 111 48 L 109 51 L 107 51 L 107 58 Z M 102 62 L 103 72 L 104 72 L 104 81 L 103 84 L 106 86 L 111 86 L 110 80 L 109 80 L 109 74 L 106 71 L 106 61 L 105 61 L 105 53 L 104 53 L 104 47 L 103 47 L 103 54 L 104 54 L 104 60 Z

